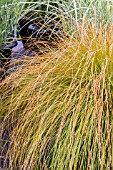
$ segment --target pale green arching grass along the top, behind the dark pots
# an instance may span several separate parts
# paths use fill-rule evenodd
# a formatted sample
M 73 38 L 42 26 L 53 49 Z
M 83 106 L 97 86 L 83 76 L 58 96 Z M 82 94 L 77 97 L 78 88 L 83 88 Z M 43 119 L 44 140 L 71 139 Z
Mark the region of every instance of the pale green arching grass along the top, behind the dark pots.
M 100 21 L 113 23 L 113 1 L 111 0 L 1 0 L 0 1 L 0 43 L 6 42 L 8 36 L 14 37 L 18 20 L 27 13 L 38 15 L 45 13 L 58 14 L 65 21 L 65 29 L 72 34 L 73 24 L 87 18 L 92 25 L 99 25 Z M 68 24 L 67 24 L 68 23 Z M 78 24 L 77 24 L 78 25 Z

